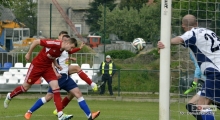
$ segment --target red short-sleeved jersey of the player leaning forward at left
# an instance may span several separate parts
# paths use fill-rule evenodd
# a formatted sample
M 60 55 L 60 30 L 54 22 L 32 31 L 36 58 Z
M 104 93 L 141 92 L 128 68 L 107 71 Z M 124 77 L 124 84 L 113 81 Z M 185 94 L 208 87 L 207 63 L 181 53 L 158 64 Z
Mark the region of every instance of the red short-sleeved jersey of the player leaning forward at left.
M 55 58 L 60 57 L 61 53 L 61 44 L 60 40 L 48 40 L 41 39 L 40 45 L 44 48 L 38 53 L 38 55 L 33 59 L 32 64 L 40 67 L 51 66 Z

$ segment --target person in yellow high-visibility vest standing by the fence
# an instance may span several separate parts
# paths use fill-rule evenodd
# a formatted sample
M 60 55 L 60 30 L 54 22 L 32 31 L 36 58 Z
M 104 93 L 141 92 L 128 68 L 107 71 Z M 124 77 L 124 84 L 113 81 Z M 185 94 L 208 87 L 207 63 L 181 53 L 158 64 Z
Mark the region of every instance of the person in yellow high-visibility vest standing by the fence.
M 108 91 L 110 95 L 113 95 L 112 91 L 112 77 L 116 72 L 116 67 L 114 62 L 111 60 L 111 56 L 107 55 L 105 61 L 103 61 L 100 65 L 100 73 L 102 74 L 102 82 L 104 82 L 100 88 L 100 95 L 105 93 L 105 84 L 108 84 Z

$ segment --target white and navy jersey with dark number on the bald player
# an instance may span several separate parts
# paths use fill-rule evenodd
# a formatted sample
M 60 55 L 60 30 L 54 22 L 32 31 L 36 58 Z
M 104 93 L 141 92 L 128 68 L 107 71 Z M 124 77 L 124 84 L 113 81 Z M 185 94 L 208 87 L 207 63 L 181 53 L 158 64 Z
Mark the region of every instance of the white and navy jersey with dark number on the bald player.
M 202 73 L 210 67 L 220 71 L 220 39 L 215 32 L 197 27 L 179 37 L 194 53 Z

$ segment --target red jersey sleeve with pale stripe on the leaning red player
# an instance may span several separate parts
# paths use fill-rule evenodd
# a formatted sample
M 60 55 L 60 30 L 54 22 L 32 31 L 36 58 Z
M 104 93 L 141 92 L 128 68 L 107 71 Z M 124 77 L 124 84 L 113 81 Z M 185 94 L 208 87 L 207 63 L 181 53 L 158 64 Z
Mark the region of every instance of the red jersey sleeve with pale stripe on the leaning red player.
M 40 45 L 47 48 L 60 48 L 61 41 L 51 40 L 51 39 L 41 39 Z

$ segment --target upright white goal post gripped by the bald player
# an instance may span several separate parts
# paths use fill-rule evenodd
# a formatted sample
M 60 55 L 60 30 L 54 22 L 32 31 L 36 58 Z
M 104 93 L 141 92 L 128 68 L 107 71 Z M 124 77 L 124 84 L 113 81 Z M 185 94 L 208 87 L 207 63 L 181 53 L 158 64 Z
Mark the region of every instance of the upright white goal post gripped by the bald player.
M 165 49 L 160 50 L 159 120 L 170 119 L 171 2 L 172 0 L 161 0 L 160 40 Z

